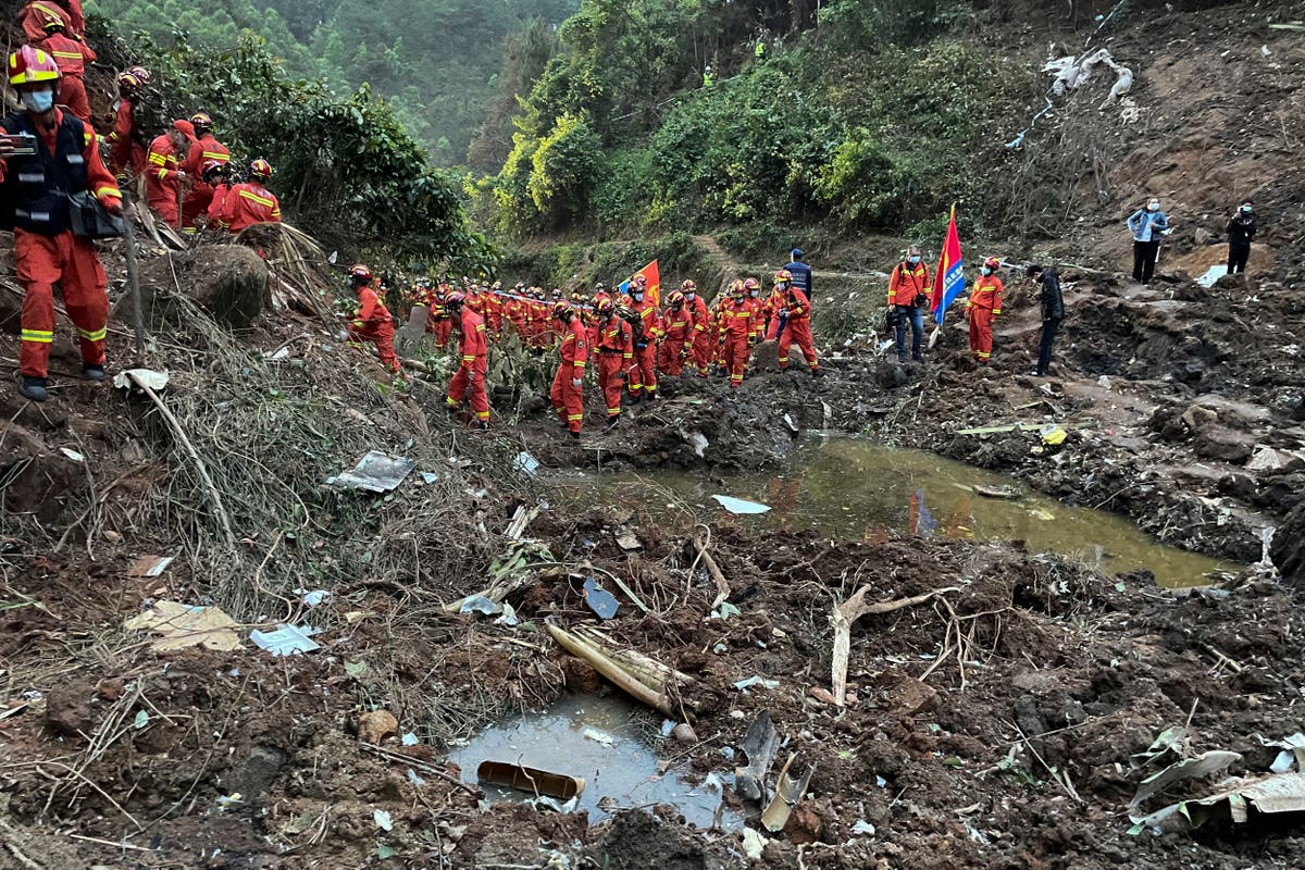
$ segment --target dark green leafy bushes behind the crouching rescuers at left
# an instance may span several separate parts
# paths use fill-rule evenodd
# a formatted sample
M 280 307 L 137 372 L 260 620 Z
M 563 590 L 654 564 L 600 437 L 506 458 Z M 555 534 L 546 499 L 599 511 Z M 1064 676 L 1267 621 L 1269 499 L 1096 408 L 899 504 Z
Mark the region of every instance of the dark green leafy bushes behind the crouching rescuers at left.
M 468 228 L 450 179 L 428 166 L 389 103 L 368 87 L 341 98 L 322 83 L 292 81 L 252 34 L 226 50 L 184 39 L 164 50 L 144 35 L 132 47 L 115 46 L 97 30 L 90 39 L 110 61 L 147 60 L 158 89 L 145 102 L 163 102 L 149 115 L 206 111 L 236 159 L 270 160 L 287 220 L 325 244 L 346 256 L 442 261 L 465 274 L 493 267 L 493 250 Z

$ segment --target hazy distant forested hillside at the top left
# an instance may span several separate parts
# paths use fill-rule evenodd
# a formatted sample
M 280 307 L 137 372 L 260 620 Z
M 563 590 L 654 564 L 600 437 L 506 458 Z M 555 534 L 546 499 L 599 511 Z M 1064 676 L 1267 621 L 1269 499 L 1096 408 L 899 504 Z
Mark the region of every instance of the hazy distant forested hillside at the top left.
M 462 163 L 500 95 L 505 39 L 535 20 L 561 21 L 577 0 L 86 0 L 123 33 L 231 50 L 243 31 L 268 40 L 291 74 L 338 90 L 369 83 L 441 166 Z M 545 25 L 548 27 L 548 25 Z M 529 93 L 529 82 L 519 93 Z M 500 157 L 501 162 L 501 157 Z

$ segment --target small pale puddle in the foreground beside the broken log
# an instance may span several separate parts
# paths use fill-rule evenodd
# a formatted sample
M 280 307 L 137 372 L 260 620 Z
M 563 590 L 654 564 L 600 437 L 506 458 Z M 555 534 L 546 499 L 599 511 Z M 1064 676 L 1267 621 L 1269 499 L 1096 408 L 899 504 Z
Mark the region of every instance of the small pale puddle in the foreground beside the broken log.
M 609 745 L 586 737 L 598 732 Z M 527 713 L 484 729 L 466 746 L 449 753 L 462 768 L 462 781 L 475 783 L 482 762 L 508 762 L 538 770 L 581 776 L 585 790 L 577 810 L 589 810 L 590 822 L 608 818 L 616 809 L 675 806 L 697 828 L 710 828 L 720 792 L 686 779 L 675 768 L 660 773 L 652 736 L 659 720 L 624 698 L 576 695 L 548 710 Z M 692 775 L 690 775 L 692 776 Z M 491 803 L 532 800 L 531 794 L 496 785 L 482 785 Z M 724 810 L 722 827 L 735 830 L 741 817 Z

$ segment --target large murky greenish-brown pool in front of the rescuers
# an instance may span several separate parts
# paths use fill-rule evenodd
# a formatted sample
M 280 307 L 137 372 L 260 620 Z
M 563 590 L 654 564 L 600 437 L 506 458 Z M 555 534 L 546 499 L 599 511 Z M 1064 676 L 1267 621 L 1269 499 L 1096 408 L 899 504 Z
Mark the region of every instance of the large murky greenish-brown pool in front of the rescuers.
M 1070 556 L 1108 574 L 1148 569 L 1161 586 L 1198 586 L 1211 571 L 1240 566 L 1165 547 L 1116 514 L 1067 507 L 1028 493 L 1013 477 L 929 453 L 885 447 L 859 438 L 804 445 L 783 473 L 711 476 L 684 471 L 654 475 L 586 475 L 557 483 L 581 501 L 629 505 L 688 503 L 699 518 L 726 518 L 760 530 L 816 530 L 830 537 L 882 539 L 887 532 L 923 537 L 1022 539 L 1032 552 Z M 1013 501 L 979 496 L 974 487 L 1018 487 Z M 731 517 L 711 500 L 735 496 L 770 505 L 757 517 Z M 680 520 L 683 522 L 683 520 Z

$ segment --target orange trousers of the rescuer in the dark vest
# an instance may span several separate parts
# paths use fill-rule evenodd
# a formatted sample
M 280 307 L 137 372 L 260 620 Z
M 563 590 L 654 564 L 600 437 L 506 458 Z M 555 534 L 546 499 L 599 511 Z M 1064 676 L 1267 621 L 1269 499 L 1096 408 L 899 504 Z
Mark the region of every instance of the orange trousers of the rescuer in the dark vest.
M 50 344 L 55 338 L 55 282 L 64 293 L 68 317 L 81 335 L 82 363 L 104 364 L 108 296 L 104 267 L 95 247 L 72 231 L 43 236 L 13 231 L 22 297 L 22 347 L 18 367 L 27 377 L 48 377 Z

